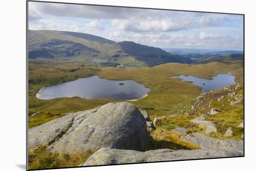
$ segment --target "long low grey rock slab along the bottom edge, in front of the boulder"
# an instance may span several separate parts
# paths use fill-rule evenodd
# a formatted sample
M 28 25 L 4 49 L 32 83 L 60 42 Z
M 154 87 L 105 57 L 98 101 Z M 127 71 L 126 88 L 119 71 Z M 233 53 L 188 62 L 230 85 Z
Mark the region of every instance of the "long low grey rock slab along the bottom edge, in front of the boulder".
M 89 165 L 114 165 L 124 163 L 143 163 L 155 161 L 172 161 L 197 158 L 220 158 L 242 156 L 241 152 L 224 151 L 222 149 L 214 150 L 170 150 L 158 149 L 147 152 L 138 152 L 134 150 L 118 150 L 110 148 L 101 148 L 90 156 L 87 161 L 80 166 Z

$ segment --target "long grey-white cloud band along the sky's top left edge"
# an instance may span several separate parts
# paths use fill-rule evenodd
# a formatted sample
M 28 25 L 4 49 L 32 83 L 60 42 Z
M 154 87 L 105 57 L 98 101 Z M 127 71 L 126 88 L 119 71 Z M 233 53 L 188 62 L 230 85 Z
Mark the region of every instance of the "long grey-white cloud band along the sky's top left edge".
M 148 18 L 164 13 L 161 10 L 90 6 L 73 4 L 55 4 L 42 2 L 29 2 L 30 15 L 48 15 L 58 17 L 74 17 L 81 19 L 128 19 L 134 16 Z

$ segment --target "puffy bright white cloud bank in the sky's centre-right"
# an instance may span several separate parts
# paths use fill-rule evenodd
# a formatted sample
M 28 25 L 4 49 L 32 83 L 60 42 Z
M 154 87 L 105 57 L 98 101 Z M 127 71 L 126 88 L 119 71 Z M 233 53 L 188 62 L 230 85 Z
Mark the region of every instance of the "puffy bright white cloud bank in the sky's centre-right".
M 158 19 L 112 19 L 112 25 L 119 30 L 129 32 L 175 32 L 223 24 L 228 18 L 211 18 L 203 15 L 175 15 Z

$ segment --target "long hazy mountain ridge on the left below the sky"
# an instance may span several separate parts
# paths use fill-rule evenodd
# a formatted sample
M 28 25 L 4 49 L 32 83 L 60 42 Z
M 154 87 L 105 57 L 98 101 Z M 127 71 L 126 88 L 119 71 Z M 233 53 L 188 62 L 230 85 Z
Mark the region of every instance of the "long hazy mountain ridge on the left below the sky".
M 62 31 L 28 31 L 28 58 L 79 57 L 115 66 L 155 66 L 163 63 L 192 63 L 189 57 L 135 42 L 115 42 L 99 36 Z

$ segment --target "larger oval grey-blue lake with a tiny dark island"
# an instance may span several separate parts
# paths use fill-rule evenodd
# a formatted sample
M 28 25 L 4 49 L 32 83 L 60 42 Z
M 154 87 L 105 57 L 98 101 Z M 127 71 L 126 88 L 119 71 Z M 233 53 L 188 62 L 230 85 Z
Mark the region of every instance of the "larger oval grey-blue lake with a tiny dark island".
M 86 99 L 113 98 L 117 100 L 133 100 L 143 97 L 149 91 L 150 89 L 145 88 L 143 84 L 133 80 L 115 81 L 91 76 L 45 87 L 40 89 L 36 97 L 44 100 L 74 96 Z

